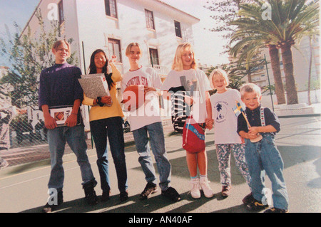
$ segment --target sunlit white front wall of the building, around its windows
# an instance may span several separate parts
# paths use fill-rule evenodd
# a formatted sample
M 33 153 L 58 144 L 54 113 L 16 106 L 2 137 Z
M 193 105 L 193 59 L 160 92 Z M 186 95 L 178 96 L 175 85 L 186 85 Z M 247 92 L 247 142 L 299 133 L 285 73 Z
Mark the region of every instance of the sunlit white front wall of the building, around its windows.
M 186 40 L 193 43 L 191 21 L 197 23 L 197 19 L 188 18 L 189 16 L 180 11 L 174 10 L 176 14 L 173 14 L 173 9 L 153 0 L 116 0 L 116 4 L 118 19 L 113 19 L 106 16 L 104 1 L 76 1 L 79 40 L 80 43 L 84 43 L 87 67 L 91 53 L 97 48 L 102 48 L 111 58 L 111 53 L 108 53 L 108 38 L 121 41 L 123 64 L 119 66 L 123 73 L 129 69 L 125 51 L 131 42 L 141 44 L 142 65 L 150 65 L 148 48 L 157 48 L 160 65 L 168 69 L 173 62 L 178 44 Z M 155 31 L 146 28 L 145 9 L 153 11 Z M 174 20 L 180 21 L 183 38 L 176 38 Z

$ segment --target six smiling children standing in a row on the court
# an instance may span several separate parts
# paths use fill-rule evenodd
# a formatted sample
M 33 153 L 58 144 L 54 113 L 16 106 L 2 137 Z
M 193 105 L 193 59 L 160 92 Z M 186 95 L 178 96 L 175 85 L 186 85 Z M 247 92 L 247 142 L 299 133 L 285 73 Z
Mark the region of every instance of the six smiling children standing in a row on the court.
M 126 48 L 130 69 L 121 76 L 103 50 L 96 50 L 91 55 L 89 73 L 104 73 L 108 82 L 111 96 L 90 99 L 83 94 L 78 83 L 81 72 L 79 68 L 66 63 L 70 55 L 70 46 L 66 41 L 57 41 L 52 48 L 56 57 L 56 64 L 43 70 L 40 76 L 39 108 L 44 112 L 45 127 L 49 129 L 48 141 L 51 152 L 51 176 L 49 189 L 58 191 L 58 203 L 48 201 L 44 212 L 51 212 L 63 202 L 63 167 L 62 155 L 66 141 L 76 154 L 77 162 L 81 167 L 83 189 L 88 204 L 97 204 L 98 199 L 94 187 L 97 184 L 91 171 L 86 154 L 86 142 L 83 124 L 77 125 L 80 115 L 79 106 L 91 105 L 89 120 L 91 133 L 96 144 L 97 165 L 101 177 L 102 201 L 109 199 L 111 189 L 108 176 L 108 146 L 107 137 L 111 147 L 113 162 L 115 163 L 118 179 L 118 189 L 121 201 L 128 199 L 128 185 L 126 160 L 124 153 L 123 131 L 121 117 L 123 112 L 116 98 L 116 82 L 121 81 L 121 92 L 129 85 L 143 85 L 144 93 L 153 95 L 162 91 L 184 91 L 183 102 L 188 103 L 190 112 L 195 121 L 205 131 L 214 128 L 214 141 L 220 170 L 220 182 L 223 186 L 222 196 L 230 194 L 230 154 L 233 152 L 235 162 L 250 187 L 250 194 L 245 196 L 243 203 L 251 211 L 258 211 L 268 207 L 265 203 L 263 171 L 272 181 L 272 199 L 274 208 L 267 211 L 286 212 L 288 198 L 285 181 L 282 176 L 282 158 L 277 151 L 274 135 L 280 131 L 280 122 L 276 115 L 268 108 L 260 105 L 260 88 L 253 84 L 246 84 L 241 89 L 228 88 L 228 75 L 224 70 L 213 70 L 208 80 L 205 73 L 199 70 L 195 62 L 193 47 L 190 43 L 178 46 L 173 60 L 172 70 L 164 82 L 153 68 L 144 67 L 139 62 L 142 51 L 138 43 L 130 43 Z M 216 89 L 217 93 L 210 96 L 209 91 Z M 155 110 L 153 114 L 139 114 L 144 112 L 144 105 L 130 112 L 131 131 L 139 154 L 138 162 L 141 164 L 147 181 L 140 199 L 148 199 L 150 194 L 158 191 L 156 171 L 151 159 L 151 150 L 156 159 L 158 168 L 159 186 L 161 194 L 172 201 L 180 201 L 180 194 L 170 186 L 171 166 L 165 150 L 165 139 L 161 116 L 159 115 L 158 98 L 148 100 L 148 105 Z M 233 111 L 237 103 L 246 106 L 245 120 L 243 115 L 238 117 Z M 108 105 L 109 104 L 109 105 Z M 65 126 L 57 127 L 49 110 L 55 106 L 71 106 L 72 112 L 67 118 Z M 157 114 L 158 112 L 158 114 Z M 263 120 L 262 120 L 263 119 Z M 249 123 L 248 123 L 249 122 Z M 251 142 L 251 139 L 263 136 L 260 142 Z M 149 135 L 149 139 L 148 139 Z M 151 150 L 150 150 L 150 142 Z M 203 191 L 207 198 L 214 196 L 207 177 L 208 161 L 205 149 L 202 152 L 186 152 L 186 162 L 190 173 L 190 195 L 198 199 Z M 200 177 L 198 177 L 198 172 Z

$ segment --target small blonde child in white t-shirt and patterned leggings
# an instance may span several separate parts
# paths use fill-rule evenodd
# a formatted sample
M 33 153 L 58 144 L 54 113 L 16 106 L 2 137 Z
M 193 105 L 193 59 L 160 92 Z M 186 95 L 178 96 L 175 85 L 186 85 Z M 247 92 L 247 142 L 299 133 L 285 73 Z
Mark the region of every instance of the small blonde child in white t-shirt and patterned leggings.
M 248 164 L 245 162 L 245 145 L 238 135 L 238 117 L 233 111 L 236 101 L 240 102 L 241 105 L 243 105 L 243 102 L 240 99 L 238 90 L 227 88 L 229 80 L 228 74 L 224 70 L 213 70 L 209 79 L 210 86 L 217 90 L 217 93 L 210 97 L 210 103 L 214 120 L 214 141 L 218 157 L 218 168 L 220 170 L 220 183 L 223 186 L 222 196 L 226 197 L 230 194 L 231 189 L 231 152 L 234 154 L 236 166 L 245 178 L 245 181 L 250 185 Z

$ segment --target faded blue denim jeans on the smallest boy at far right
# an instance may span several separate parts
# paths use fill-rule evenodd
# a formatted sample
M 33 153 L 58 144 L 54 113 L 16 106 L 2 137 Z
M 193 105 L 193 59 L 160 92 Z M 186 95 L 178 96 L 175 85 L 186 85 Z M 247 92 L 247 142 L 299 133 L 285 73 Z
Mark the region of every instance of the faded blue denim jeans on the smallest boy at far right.
M 245 159 L 251 176 L 253 197 L 258 201 L 265 199 L 264 171 L 272 183 L 272 201 L 275 208 L 287 210 L 289 198 L 282 174 L 283 161 L 275 145 L 274 136 L 263 133 L 260 142 L 245 139 Z

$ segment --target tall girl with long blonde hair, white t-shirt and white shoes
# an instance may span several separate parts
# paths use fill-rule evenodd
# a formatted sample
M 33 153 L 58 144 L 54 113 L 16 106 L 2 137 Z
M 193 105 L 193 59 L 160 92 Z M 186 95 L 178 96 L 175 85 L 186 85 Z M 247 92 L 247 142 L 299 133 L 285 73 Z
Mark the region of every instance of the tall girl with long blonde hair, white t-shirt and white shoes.
M 194 51 L 190 43 L 183 43 L 178 46 L 175 53 L 175 58 L 173 61 L 173 66 L 168 73 L 168 76 L 165 78 L 161 90 L 173 90 L 173 88 L 178 88 L 184 86 L 181 83 L 182 78 L 185 80 L 185 85 L 193 85 L 194 89 L 197 91 L 194 96 L 192 112 L 193 118 L 199 124 L 207 122 L 206 125 L 209 129 L 213 126 L 212 114 L 210 108 L 210 100 L 208 90 L 210 88 L 210 83 L 208 78 L 202 70 L 197 68 L 194 58 Z M 185 89 L 186 90 L 186 89 Z M 187 98 L 185 98 L 185 101 Z M 186 101 L 188 102 L 188 101 Z M 191 104 L 191 103 L 188 103 Z M 204 129 L 205 130 L 205 129 Z M 192 189 L 190 194 L 193 198 L 200 198 L 200 188 L 203 189 L 203 192 L 206 197 L 212 197 L 213 190 L 210 189 L 207 178 L 207 155 L 205 150 L 198 153 L 189 153 L 186 152 L 186 161 L 188 164 L 188 170 L 190 172 L 190 179 Z M 198 179 L 198 169 L 200 171 L 200 179 Z

